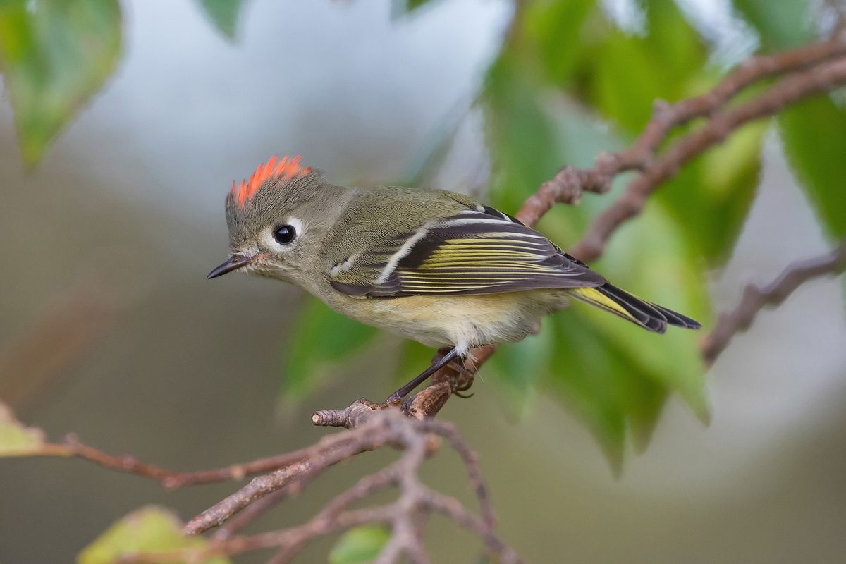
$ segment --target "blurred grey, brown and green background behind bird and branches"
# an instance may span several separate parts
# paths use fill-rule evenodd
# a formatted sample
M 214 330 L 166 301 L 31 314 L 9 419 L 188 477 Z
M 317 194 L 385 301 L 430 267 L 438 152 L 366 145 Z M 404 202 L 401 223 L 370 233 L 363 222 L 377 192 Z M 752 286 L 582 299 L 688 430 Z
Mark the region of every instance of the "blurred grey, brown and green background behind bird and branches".
M 431 356 L 279 282 L 207 282 L 227 255 L 233 178 L 301 153 L 338 183 L 473 191 L 514 213 L 559 166 L 625 146 L 653 99 L 706 91 L 752 52 L 815 41 L 836 8 L 59 4 L 0 3 L 0 398 L 53 439 L 74 431 L 185 470 L 308 445 L 327 432 L 311 426 L 314 409 L 381 398 Z M 102 16 L 93 28 L 91 14 Z M 79 60 L 39 47 L 51 75 L 13 47 L 38 47 L 52 25 L 97 39 Z M 692 162 L 597 269 L 707 330 L 745 283 L 825 252 L 846 217 L 832 207 L 844 201 L 841 98 L 752 124 Z M 567 248 L 612 198 L 587 194 L 540 229 Z M 504 347 L 472 399 L 440 417 L 479 452 L 503 539 L 526 561 L 840 561 L 843 295 L 842 279 L 806 283 L 707 371 L 701 334 L 641 335 L 574 306 Z M 303 521 L 392 457 L 332 469 L 251 530 Z M 451 455 L 423 478 L 472 506 Z M 189 518 L 231 490 L 167 492 L 79 461 L 4 458 L 0 563 L 72 561 L 137 507 Z M 428 536 L 433 561 L 481 550 L 437 518 Z M 301 560 L 324 561 L 331 546 Z

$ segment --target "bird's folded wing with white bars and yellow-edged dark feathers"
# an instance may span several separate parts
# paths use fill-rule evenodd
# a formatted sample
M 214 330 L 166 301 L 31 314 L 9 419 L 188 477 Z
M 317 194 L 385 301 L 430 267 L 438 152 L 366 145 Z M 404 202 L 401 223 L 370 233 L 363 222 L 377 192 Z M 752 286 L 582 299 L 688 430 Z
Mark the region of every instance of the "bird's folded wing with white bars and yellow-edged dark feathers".
M 332 265 L 339 292 L 365 298 L 602 286 L 605 279 L 549 239 L 478 205 L 382 240 Z

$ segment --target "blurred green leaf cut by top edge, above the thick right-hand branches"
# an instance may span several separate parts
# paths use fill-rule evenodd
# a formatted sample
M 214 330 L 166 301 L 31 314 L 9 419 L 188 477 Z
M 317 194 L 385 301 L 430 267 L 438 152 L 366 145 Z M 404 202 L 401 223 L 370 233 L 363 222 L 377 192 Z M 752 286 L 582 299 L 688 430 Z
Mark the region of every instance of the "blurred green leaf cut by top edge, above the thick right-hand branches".
M 807 0 L 734 0 L 734 8 L 758 31 L 766 52 L 799 47 L 813 39 Z

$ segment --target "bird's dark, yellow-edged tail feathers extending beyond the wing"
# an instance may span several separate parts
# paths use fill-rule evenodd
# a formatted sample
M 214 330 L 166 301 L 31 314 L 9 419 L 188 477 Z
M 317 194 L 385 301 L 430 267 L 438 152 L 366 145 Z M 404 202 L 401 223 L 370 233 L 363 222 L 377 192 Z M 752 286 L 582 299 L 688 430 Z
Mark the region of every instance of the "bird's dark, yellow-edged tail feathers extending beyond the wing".
M 667 330 L 667 324 L 686 329 L 701 327 L 696 320 L 676 313 L 672 309 L 662 308 L 660 305 L 636 298 L 608 283 L 599 287 L 575 287 L 569 290 L 569 293 L 586 304 L 605 309 L 649 331 L 663 333 Z

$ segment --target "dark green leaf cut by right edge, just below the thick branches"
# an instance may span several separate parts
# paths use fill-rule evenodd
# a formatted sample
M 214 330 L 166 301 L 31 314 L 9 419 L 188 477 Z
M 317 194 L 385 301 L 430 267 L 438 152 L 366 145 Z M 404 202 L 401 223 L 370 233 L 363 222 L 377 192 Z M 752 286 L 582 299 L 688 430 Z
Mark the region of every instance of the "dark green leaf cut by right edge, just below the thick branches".
M 803 101 L 778 118 L 784 151 L 828 235 L 846 235 L 846 112 L 828 96 Z

